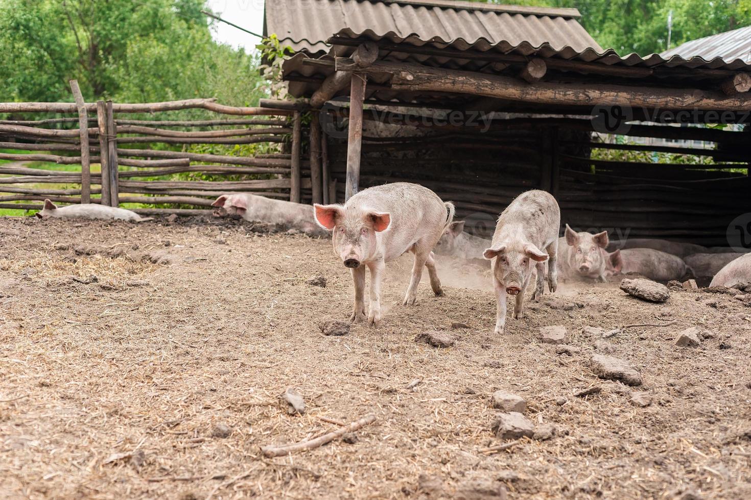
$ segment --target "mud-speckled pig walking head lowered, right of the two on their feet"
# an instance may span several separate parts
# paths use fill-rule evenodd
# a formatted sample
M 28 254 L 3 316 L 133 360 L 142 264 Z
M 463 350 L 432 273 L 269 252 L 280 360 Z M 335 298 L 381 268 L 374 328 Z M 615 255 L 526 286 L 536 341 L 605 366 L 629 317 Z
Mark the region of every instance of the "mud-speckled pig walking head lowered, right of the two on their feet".
M 520 194 L 498 217 L 496 232 L 485 259 L 493 261 L 493 288 L 496 291 L 496 334 L 506 325 L 506 294 L 516 296 L 514 318 L 524 315 L 524 292 L 532 277 L 532 263 L 537 268 L 537 283 L 532 299 L 544 292 L 547 260 L 547 286 L 558 286 L 556 255 L 560 227 L 558 202 L 550 193 L 531 190 Z

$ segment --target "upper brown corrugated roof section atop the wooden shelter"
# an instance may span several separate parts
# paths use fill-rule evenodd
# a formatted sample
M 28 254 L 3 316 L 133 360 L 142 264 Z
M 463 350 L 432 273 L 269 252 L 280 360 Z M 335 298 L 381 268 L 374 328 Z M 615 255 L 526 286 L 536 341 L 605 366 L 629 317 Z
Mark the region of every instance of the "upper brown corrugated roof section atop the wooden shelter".
M 276 33 L 295 52 L 322 55 L 342 30 L 391 38 L 474 46 L 549 45 L 575 52 L 602 47 L 576 20 L 576 9 L 545 9 L 449 0 L 273 0 L 265 34 Z

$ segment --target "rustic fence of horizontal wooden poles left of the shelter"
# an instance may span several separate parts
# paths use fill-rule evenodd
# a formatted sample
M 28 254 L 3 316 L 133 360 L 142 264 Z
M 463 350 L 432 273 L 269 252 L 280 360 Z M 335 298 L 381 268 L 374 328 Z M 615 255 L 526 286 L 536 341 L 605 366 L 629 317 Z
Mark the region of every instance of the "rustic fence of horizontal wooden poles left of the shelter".
M 20 113 L 78 115 L 0 120 L 0 148 L 14 150 L 0 153 L 0 160 L 12 162 L 0 164 L 0 193 L 3 193 L 0 208 L 41 209 L 41 204 L 10 202 L 49 198 L 56 202 L 110 206 L 173 205 L 175 208 L 140 211 L 193 213 L 190 208 L 178 205 L 206 207 L 216 196 L 237 191 L 298 202 L 323 202 L 321 193 L 330 190 L 318 185 L 322 177 L 318 156 L 313 162 L 303 158 L 311 150 L 320 154 L 317 152 L 321 150 L 320 128 L 309 130 L 302 124 L 300 111 L 289 109 L 282 101 L 266 100 L 264 107 L 225 106 L 213 99 L 84 103 L 74 80 L 71 91 L 75 103 L 0 103 L 0 113 L 12 113 L 13 117 Z M 179 109 L 205 109 L 222 118 L 170 120 L 158 115 L 149 120 L 123 116 Z M 230 118 L 236 116 L 249 118 Z M 310 140 L 315 140 L 314 147 L 309 145 Z M 212 145 L 249 144 L 267 148 L 254 156 L 235 156 L 197 152 L 202 148 L 189 147 L 207 145 L 211 151 Z M 27 162 L 50 165 L 29 168 Z M 91 169 L 97 163 L 101 166 L 99 172 Z M 79 164 L 80 172 L 55 167 Z M 210 175 L 217 180 L 173 178 L 175 174 L 188 172 Z M 264 178 L 249 178 L 251 175 Z M 315 179 L 315 187 L 311 179 Z M 66 185 L 61 188 L 44 184 Z

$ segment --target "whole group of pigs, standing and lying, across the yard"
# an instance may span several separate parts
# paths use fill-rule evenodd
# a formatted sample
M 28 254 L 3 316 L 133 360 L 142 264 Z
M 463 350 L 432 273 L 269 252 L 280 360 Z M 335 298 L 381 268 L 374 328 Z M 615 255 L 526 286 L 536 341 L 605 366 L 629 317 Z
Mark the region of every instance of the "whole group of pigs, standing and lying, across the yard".
M 232 193 L 219 196 L 216 216 L 237 215 L 297 229 L 309 235 L 331 232 L 333 250 L 349 268 L 354 281 L 351 321 L 367 319 L 377 326 L 382 319 L 381 282 L 385 263 L 404 253 L 414 264 L 404 305 L 415 304 L 423 268 L 436 295 L 443 290 L 436 270 L 435 249 L 464 259 L 490 261 L 496 297 L 496 334 L 506 321 L 506 295 L 514 297 L 514 319 L 524 313 L 526 289 L 535 276 L 532 300 L 547 289 L 555 292 L 558 277 L 564 280 L 607 281 L 616 273 L 638 273 L 658 281 L 689 276 L 713 276 L 712 286 L 751 283 L 751 253 L 732 253 L 657 239 L 632 238 L 611 242 L 608 232 L 575 232 L 566 224 L 559 238 L 560 210 L 545 191 L 522 193 L 500 214 L 490 240 L 464 232 L 464 221 L 454 221 L 454 204 L 443 202 L 419 184 L 396 182 L 369 187 L 351 196 L 344 205 L 309 205 Z M 50 200 L 37 217 L 83 217 L 140 222 L 132 211 L 101 205 L 68 205 L 57 208 Z M 369 308 L 365 306 L 365 270 L 370 271 Z M 751 285 L 749 285 L 751 286 Z

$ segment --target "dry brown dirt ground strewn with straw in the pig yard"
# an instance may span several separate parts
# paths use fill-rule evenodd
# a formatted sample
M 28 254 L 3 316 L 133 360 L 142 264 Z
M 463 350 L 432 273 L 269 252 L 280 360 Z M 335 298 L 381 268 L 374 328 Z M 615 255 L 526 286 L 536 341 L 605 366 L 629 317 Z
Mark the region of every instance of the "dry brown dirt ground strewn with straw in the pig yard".
M 388 265 L 381 328 L 324 337 L 322 322 L 350 313 L 348 269 L 330 241 L 256 230 L 0 220 L 2 498 L 494 498 L 477 484 L 511 499 L 751 498 L 749 302 L 674 291 L 647 304 L 617 283 L 567 283 L 496 337 L 485 271 L 439 258 L 445 296 L 426 273 L 403 307 L 403 257 Z M 327 285 L 306 283 L 315 275 Z M 547 325 L 581 352 L 541 343 Z M 695 325 L 710 338 L 675 346 Z M 603 343 L 586 326 L 622 331 Z M 415 342 L 432 330 L 456 344 Z M 593 352 L 629 361 L 644 385 L 599 379 Z M 304 415 L 279 399 L 288 388 Z M 501 389 L 556 435 L 484 451 L 502 443 Z M 348 442 L 261 454 L 371 414 Z

